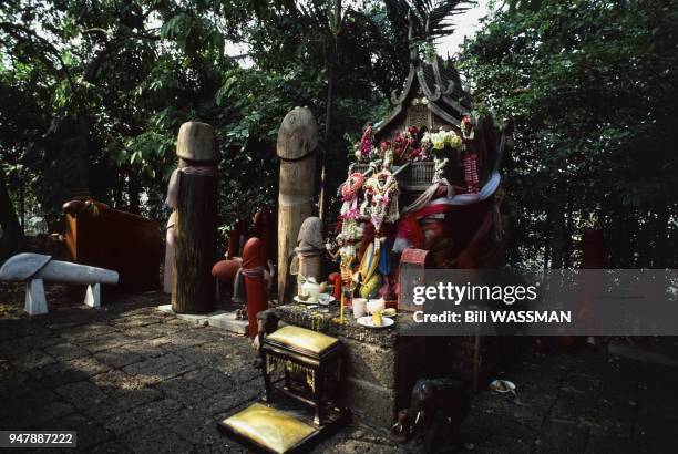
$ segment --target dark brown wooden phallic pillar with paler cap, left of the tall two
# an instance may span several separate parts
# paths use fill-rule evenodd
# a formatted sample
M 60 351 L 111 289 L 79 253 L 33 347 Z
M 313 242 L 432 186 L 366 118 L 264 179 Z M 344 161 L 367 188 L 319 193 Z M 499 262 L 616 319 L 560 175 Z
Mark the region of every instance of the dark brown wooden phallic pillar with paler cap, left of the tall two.
M 167 205 L 176 211 L 172 309 L 207 313 L 215 309 L 212 266 L 217 240 L 217 162 L 214 128 L 188 122 L 176 144 L 178 168 L 172 175 Z

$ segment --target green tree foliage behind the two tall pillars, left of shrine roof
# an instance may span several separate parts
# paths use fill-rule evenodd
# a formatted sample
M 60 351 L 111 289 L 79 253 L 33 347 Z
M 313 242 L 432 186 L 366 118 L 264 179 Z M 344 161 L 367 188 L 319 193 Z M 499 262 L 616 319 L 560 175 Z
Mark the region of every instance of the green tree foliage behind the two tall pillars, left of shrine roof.
M 270 209 L 277 128 L 295 105 L 309 106 L 322 128 L 327 62 L 339 35 L 335 120 L 323 149 L 339 159 L 330 177 L 342 177 L 342 133 L 383 111 L 407 53 L 393 47 L 397 33 L 379 2 L 351 3 L 340 16 L 335 6 L 3 2 L 0 158 L 12 188 L 38 196 L 50 228 L 79 178 L 102 202 L 162 219 L 178 127 L 197 120 L 215 127 L 223 155 L 222 223 Z M 234 43 L 244 44 L 244 59 L 229 56 Z M 86 143 L 83 153 L 71 152 L 73 141 Z

